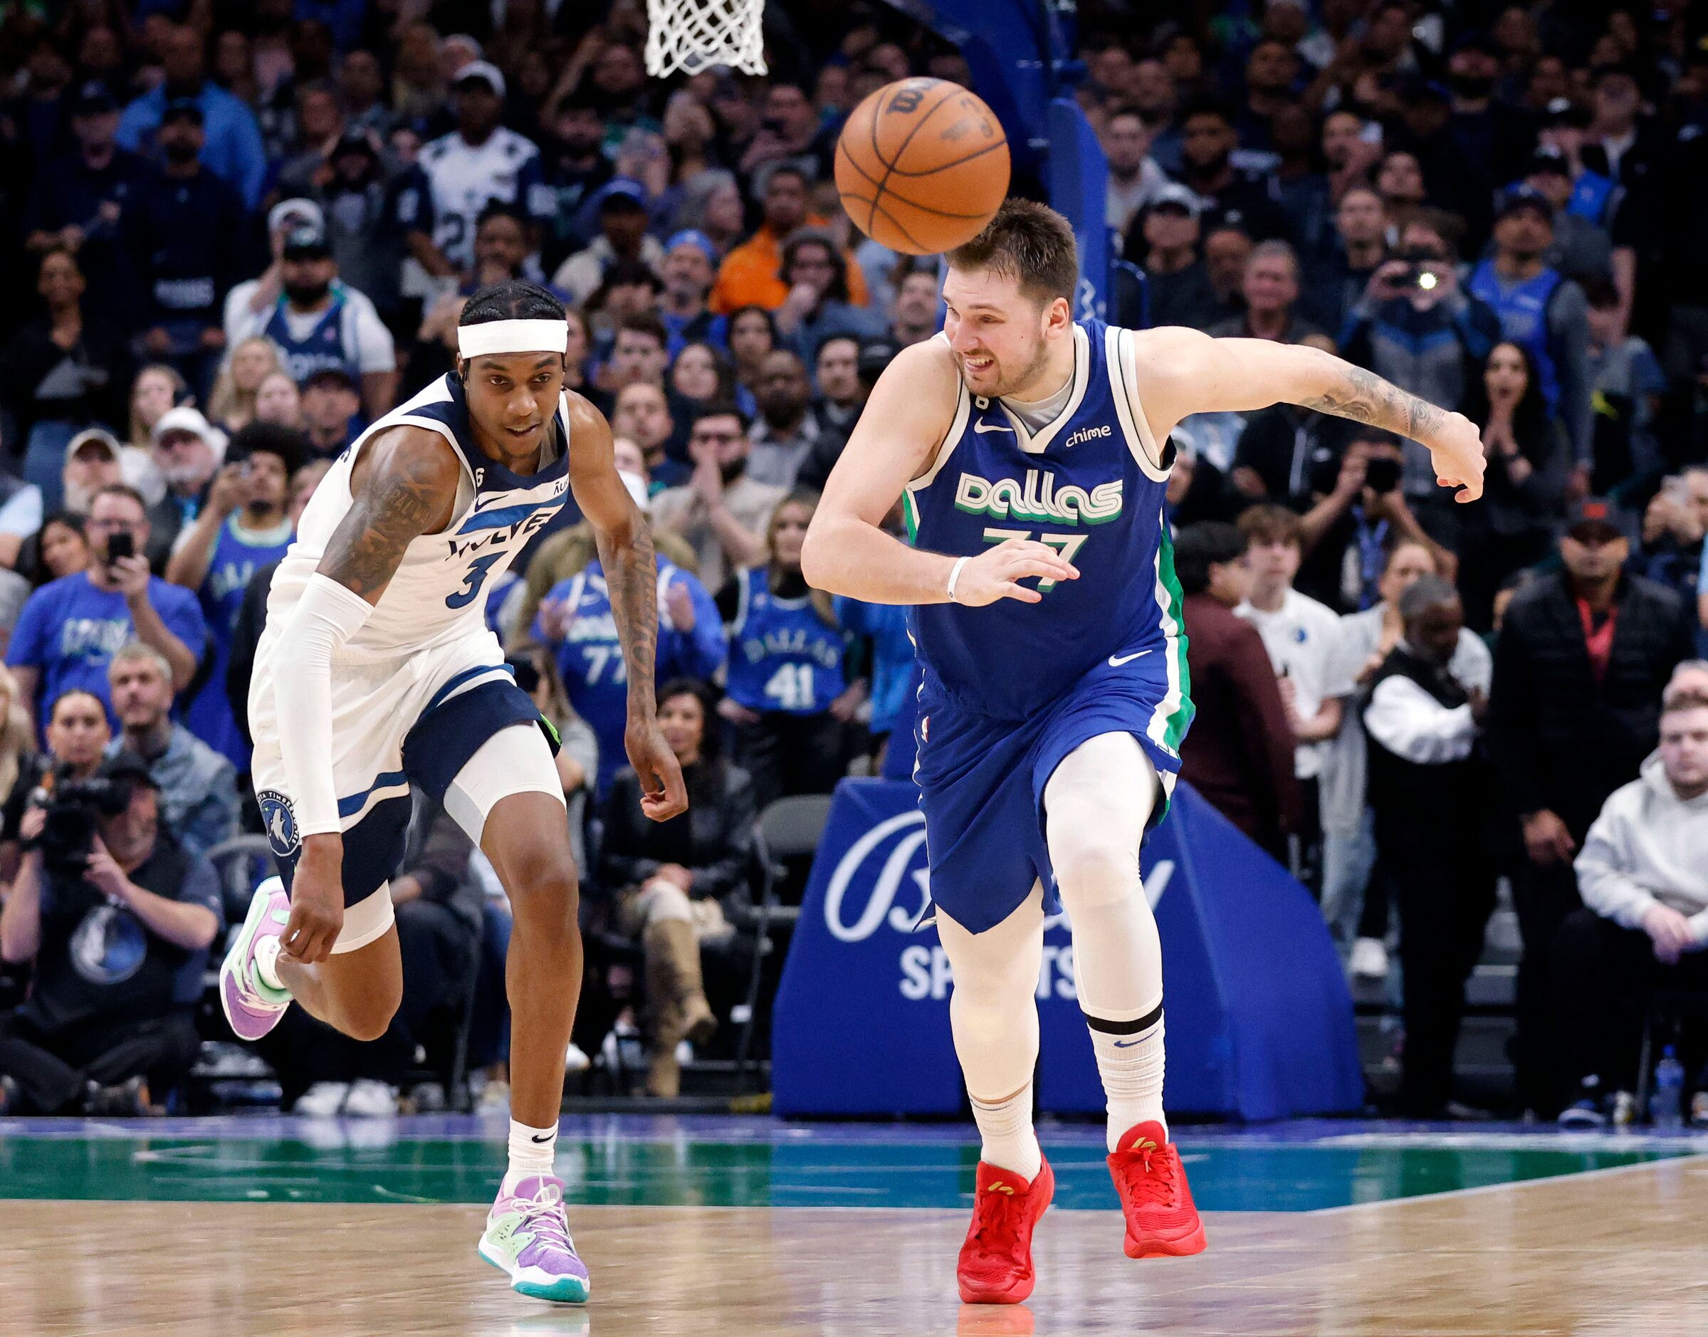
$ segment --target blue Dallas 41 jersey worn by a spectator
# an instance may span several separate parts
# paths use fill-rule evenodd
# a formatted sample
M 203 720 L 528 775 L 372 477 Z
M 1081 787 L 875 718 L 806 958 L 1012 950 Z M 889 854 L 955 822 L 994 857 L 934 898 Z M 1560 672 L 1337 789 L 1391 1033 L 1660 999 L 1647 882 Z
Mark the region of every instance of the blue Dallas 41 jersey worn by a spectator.
M 736 575 L 741 601 L 729 623 L 729 697 L 748 710 L 818 715 L 842 695 L 847 632 L 825 622 L 808 594 L 781 599 L 770 572 Z

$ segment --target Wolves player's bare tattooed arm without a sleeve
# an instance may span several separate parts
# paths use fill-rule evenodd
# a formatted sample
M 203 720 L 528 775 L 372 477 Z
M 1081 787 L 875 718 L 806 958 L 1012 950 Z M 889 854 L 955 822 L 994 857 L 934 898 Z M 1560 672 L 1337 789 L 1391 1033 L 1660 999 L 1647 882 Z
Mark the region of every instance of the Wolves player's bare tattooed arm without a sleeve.
M 611 616 L 629 669 L 629 727 L 623 744 L 640 777 L 640 811 L 664 821 L 687 811 L 676 755 L 658 731 L 652 669 L 658 664 L 658 558 L 652 531 L 617 475 L 611 427 L 579 394 L 569 394 L 569 485 L 593 526 Z

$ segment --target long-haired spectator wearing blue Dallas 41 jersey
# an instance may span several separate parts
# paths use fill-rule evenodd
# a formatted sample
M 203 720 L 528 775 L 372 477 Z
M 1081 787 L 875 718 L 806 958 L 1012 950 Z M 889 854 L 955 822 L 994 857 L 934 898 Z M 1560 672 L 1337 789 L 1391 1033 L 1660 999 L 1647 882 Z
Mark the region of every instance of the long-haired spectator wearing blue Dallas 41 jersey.
M 847 774 L 844 721 L 864 698 L 844 676 L 847 633 L 830 596 L 801 575 L 801 543 L 816 507 L 811 492 L 784 497 L 765 524 L 767 565 L 733 572 L 717 591 L 729 625 L 717 712 L 734 724 L 734 758 L 752 775 L 760 809 L 786 794 L 835 789 Z

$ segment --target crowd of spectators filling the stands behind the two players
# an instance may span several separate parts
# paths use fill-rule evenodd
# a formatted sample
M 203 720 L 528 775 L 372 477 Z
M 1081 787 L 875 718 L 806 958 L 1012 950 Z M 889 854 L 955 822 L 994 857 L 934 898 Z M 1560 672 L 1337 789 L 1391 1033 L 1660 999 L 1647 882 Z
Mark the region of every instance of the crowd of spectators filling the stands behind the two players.
M 763 79 L 651 80 L 644 36 L 637 0 L 0 19 L 0 955 L 32 980 L 0 1023 L 0 1105 L 140 1108 L 183 1074 L 186 982 L 222 924 L 202 861 L 258 828 L 266 581 L 328 461 L 453 367 L 485 283 L 570 307 L 569 384 L 658 536 L 661 719 L 697 799 L 639 821 L 622 649 L 570 511 L 487 615 L 565 738 L 605 944 L 581 1048 L 640 1021 L 646 1086 L 675 1093 L 678 1043 L 719 1019 L 700 949 L 736 936 L 753 813 L 907 774 L 905 623 L 808 589 L 799 543 L 873 382 L 936 331 L 941 261 L 856 232 L 830 166 L 866 92 L 968 67 L 873 0 L 770 0 Z M 1676 0 L 1085 0 L 1079 38 L 1105 222 L 1143 275 L 1124 318 L 1334 348 L 1465 412 L 1489 461 L 1457 507 L 1421 446 L 1339 418 L 1180 425 L 1185 777 L 1320 895 L 1354 972 L 1397 943 L 1401 1108 L 1450 1108 L 1500 878 L 1522 1103 L 1629 1084 L 1629 1028 L 1600 1018 L 1606 1057 L 1578 1071 L 1558 999 L 1587 963 L 1648 978 L 1582 907 L 1674 968 L 1708 905 L 1694 873 L 1665 881 L 1699 861 L 1617 835 L 1652 803 L 1657 842 L 1701 840 L 1705 707 L 1662 693 L 1708 615 L 1705 29 Z M 41 814 L 102 767 L 130 806 L 61 886 Z M 1423 835 L 1443 826 L 1464 838 Z M 407 862 L 415 1002 L 377 1047 L 282 1026 L 268 1057 L 306 1110 L 391 1108 L 465 980 L 502 1088 L 495 879 L 425 809 Z

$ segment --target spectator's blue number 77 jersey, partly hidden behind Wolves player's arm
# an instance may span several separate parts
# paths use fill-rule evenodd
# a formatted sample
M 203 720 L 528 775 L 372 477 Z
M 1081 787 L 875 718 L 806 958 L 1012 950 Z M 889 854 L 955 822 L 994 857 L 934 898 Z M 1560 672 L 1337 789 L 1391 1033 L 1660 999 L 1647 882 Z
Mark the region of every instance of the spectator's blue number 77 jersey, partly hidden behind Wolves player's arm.
M 664 593 L 675 584 L 683 586 L 693 601 L 692 632 L 678 632 L 670 625 Z M 629 765 L 629 753 L 623 748 L 623 729 L 629 724 L 629 664 L 623 661 L 623 645 L 617 635 L 617 618 L 611 615 L 603 567 L 596 560 L 589 562 L 586 570 L 559 581 L 547 598 L 564 601 L 576 613 L 576 620 L 564 633 L 564 644 L 557 647 L 557 671 L 564 678 L 570 705 L 588 721 L 600 743 L 596 791 L 603 797 L 617 772 Z M 709 680 L 717 673 L 724 663 L 724 623 L 717 615 L 717 604 L 697 575 L 673 567 L 663 557 L 658 558 L 658 608 L 654 668 L 658 685 L 683 676 Z M 547 644 L 538 618 L 533 637 Z

